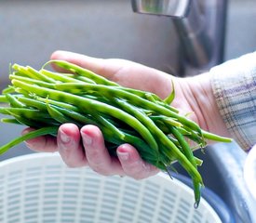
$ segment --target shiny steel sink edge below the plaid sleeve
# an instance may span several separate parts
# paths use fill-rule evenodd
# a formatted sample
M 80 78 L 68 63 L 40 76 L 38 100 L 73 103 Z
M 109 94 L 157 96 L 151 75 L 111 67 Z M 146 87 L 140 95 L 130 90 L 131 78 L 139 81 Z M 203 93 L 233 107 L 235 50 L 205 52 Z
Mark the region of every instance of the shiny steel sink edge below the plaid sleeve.
M 244 179 L 246 157 L 247 154 L 236 143 L 220 143 L 209 148 L 209 159 L 213 162 L 212 167 L 215 167 L 216 180 L 222 182 L 218 193 L 233 211 L 237 223 L 256 222 L 256 201 L 249 193 Z

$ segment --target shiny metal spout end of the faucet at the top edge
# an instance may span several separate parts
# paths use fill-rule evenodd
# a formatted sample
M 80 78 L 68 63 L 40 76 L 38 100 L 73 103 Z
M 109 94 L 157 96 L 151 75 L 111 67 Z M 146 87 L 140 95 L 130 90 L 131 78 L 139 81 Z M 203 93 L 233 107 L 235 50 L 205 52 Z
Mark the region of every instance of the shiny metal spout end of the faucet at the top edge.
M 177 19 L 188 14 L 191 0 L 131 0 L 134 12 L 169 16 Z

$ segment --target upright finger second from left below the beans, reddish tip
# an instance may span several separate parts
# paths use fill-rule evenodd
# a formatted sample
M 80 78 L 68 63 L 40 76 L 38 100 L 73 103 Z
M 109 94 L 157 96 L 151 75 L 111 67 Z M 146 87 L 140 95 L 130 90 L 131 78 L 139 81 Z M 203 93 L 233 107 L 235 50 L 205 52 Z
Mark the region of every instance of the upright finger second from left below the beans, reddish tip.
M 70 167 L 84 166 L 87 163 L 85 151 L 80 144 L 79 128 L 74 124 L 60 126 L 57 136 L 61 158 Z

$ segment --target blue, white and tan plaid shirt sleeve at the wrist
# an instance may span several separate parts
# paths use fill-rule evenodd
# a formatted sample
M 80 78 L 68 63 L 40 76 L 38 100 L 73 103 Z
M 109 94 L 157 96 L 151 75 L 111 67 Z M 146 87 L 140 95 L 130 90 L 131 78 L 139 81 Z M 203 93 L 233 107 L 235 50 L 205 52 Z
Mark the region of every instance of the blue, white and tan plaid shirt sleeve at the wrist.
M 224 123 L 245 150 L 256 144 L 256 51 L 210 70 Z

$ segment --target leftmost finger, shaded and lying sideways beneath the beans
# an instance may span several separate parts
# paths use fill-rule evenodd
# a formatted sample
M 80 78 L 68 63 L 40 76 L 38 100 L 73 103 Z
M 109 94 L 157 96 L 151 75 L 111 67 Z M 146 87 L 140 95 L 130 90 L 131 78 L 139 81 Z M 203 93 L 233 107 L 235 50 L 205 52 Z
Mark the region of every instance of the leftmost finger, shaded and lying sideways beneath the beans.
M 33 131 L 34 128 L 28 127 L 22 131 L 22 135 Z M 58 151 L 56 138 L 51 136 L 44 136 L 32 138 L 25 141 L 26 146 L 33 151 L 54 152 Z

